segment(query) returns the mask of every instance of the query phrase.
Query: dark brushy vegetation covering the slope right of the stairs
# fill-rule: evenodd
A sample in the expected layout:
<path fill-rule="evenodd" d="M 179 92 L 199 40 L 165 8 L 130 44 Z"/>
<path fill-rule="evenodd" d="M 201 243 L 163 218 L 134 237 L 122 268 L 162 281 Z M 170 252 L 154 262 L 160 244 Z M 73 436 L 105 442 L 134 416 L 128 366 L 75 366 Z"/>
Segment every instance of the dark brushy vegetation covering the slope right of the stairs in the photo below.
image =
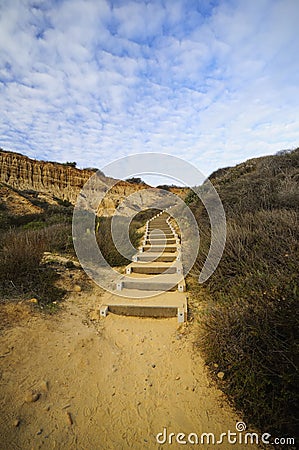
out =
<path fill-rule="evenodd" d="M 298 421 L 299 149 L 211 175 L 227 215 L 222 260 L 194 296 L 210 300 L 198 345 L 248 423 L 296 436 Z M 205 186 L 202 190 L 204 192 Z M 197 276 L 210 245 L 209 220 L 193 191 L 199 223 Z"/>

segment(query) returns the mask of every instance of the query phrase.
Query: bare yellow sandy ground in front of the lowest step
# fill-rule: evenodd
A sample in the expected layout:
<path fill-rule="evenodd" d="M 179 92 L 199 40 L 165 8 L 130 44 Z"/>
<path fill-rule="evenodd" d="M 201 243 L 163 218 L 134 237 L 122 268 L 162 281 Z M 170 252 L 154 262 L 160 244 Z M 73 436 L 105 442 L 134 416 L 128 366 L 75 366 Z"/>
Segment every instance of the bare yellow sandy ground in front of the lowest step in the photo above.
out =
<path fill-rule="evenodd" d="M 157 443 L 164 427 L 168 436 L 210 432 L 218 439 L 241 418 L 194 351 L 193 325 L 99 319 L 101 295 L 74 292 L 48 317 L 26 305 L 4 311 L 16 321 L 6 320 L 0 335 L 0 448 L 244 449 Z"/>

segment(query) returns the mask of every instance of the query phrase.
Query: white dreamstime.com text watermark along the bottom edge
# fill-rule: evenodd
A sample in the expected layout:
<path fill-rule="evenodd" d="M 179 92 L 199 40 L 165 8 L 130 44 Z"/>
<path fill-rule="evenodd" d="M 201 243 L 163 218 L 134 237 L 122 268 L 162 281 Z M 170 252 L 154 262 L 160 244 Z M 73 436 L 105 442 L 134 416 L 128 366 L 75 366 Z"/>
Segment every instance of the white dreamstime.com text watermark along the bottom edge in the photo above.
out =
<path fill-rule="evenodd" d="M 275 437 L 272 438 L 270 433 L 259 435 L 255 432 L 246 431 L 244 422 L 237 422 L 235 431 L 227 430 L 224 433 L 216 435 L 215 433 L 168 433 L 167 428 L 156 435 L 158 444 L 191 444 L 191 445 L 292 445 L 295 446 L 295 438 L 292 437 Z"/>

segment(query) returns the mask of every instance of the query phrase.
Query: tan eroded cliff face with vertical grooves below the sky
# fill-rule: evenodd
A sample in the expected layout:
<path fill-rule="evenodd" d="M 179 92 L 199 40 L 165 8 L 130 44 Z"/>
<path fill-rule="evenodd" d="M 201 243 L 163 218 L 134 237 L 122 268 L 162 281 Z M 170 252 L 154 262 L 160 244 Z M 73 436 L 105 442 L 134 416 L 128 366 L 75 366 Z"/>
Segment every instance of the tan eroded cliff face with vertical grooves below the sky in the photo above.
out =
<path fill-rule="evenodd" d="M 92 176 L 94 192 L 102 193 L 103 200 L 96 203 L 97 206 L 93 205 L 93 198 L 96 202 L 97 195 L 91 193 L 84 206 L 87 209 L 96 208 L 100 216 L 112 216 L 116 208 L 122 215 L 132 215 L 132 211 L 138 212 L 146 208 L 148 203 L 151 203 L 152 207 L 169 206 L 165 192 L 156 188 L 149 189 L 146 184 L 117 181 L 99 172 L 95 175 L 93 170 L 38 161 L 0 149 L 0 183 L 16 189 L 20 194 L 33 191 L 35 197 L 48 203 L 56 203 L 57 199 L 60 199 L 75 205 L 82 187 Z M 92 187 L 93 182 L 90 184 Z M 143 189 L 147 189 L 146 195 L 141 194 Z M 180 197 L 186 194 L 186 188 L 169 190 Z"/>

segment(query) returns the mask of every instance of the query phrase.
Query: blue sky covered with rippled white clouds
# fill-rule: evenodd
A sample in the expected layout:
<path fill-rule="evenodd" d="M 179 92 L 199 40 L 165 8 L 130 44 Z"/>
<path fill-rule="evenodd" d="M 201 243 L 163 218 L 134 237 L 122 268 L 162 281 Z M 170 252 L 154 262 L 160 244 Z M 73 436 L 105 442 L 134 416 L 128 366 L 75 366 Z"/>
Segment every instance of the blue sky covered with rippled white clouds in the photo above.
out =
<path fill-rule="evenodd" d="M 205 175 L 299 145 L 298 0 L 0 0 L 0 147 Z"/>

